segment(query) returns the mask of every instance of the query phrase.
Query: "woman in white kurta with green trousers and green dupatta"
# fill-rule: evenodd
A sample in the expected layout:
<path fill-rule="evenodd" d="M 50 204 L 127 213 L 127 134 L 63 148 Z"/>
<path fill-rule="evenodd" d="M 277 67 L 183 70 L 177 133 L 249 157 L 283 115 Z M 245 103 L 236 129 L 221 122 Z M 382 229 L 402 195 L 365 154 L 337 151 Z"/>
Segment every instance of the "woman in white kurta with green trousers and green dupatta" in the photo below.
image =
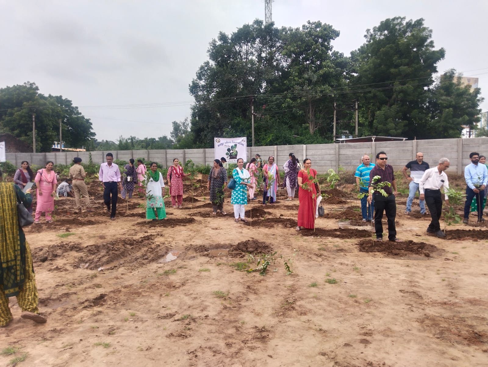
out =
<path fill-rule="evenodd" d="M 158 163 L 151 162 L 149 172 L 147 174 L 149 180 L 146 184 L 146 219 L 156 221 L 156 213 L 158 219 L 166 218 L 166 209 L 163 200 L 163 175 L 158 171 Z"/>

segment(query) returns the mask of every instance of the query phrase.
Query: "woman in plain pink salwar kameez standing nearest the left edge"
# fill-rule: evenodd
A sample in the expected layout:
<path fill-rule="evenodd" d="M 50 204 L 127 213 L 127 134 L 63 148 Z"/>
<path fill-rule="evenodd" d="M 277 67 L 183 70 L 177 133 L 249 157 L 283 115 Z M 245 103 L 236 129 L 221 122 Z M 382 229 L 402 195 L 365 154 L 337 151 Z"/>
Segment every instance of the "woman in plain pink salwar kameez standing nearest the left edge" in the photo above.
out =
<path fill-rule="evenodd" d="M 53 165 L 54 163 L 48 161 L 46 168 L 37 171 L 35 179 L 37 187 L 35 224 L 39 224 L 42 212 L 46 213 L 46 223 L 51 223 L 51 213 L 54 210 L 54 197 L 56 196 L 56 186 L 58 185 L 56 173 L 53 171 Z"/>

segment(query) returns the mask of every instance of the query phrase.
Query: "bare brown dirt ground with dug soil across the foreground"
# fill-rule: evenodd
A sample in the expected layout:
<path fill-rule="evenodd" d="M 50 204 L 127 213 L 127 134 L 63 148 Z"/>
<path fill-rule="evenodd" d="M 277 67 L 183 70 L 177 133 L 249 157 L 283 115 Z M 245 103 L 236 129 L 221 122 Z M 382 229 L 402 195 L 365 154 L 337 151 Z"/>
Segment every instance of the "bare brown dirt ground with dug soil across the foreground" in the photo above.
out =
<path fill-rule="evenodd" d="M 347 193 L 296 232 L 298 199 L 253 201 L 246 225 L 229 199 L 212 215 L 205 190 L 183 210 L 166 199 L 161 222 L 119 198 L 110 221 L 90 193 L 94 213 L 62 198 L 52 224 L 25 229 L 48 322 L 20 319 L 11 299 L 0 349 L 20 349 L 1 366 L 488 366 L 486 228 L 438 239 L 399 204 L 403 242 L 378 243 Z M 243 252 L 276 260 L 261 276 Z"/>

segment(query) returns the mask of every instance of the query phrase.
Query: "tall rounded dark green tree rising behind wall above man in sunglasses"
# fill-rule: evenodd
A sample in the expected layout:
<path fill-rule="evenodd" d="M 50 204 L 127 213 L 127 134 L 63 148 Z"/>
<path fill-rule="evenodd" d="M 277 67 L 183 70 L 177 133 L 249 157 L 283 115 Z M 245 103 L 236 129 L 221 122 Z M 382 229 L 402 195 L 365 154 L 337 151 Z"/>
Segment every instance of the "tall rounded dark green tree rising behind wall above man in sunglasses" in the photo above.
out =
<path fill-rule="evenodd" d="M 434 49 L 423 19 L 386 19 L 366 30 L 366 43 L 351 52 L 351 85 L 358 85 L 363 134 L 421 137 L 430 114 L 426 87 L 445 50 Z M 352 89 L 352 88 L 351 88 Z"/>

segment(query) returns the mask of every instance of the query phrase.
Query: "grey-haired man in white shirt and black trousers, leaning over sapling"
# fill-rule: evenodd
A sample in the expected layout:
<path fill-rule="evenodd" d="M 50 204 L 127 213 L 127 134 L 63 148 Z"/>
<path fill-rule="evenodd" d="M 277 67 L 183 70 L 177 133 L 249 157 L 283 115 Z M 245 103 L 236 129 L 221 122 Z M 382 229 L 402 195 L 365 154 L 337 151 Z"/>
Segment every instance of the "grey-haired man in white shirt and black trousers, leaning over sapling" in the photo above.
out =
<path fill-rule="evenodd" d="M 419 183 L 420 200 L 425 200 L 430 217 L 432 218 L 432 221 L 427 227 L 427 233 L 435 233 L 437 237 L 446 237 L 444 232 L 441 231 L 439 219 L 442 214 L 441 187 L 444 187 L 446 204 L 449 205 L 449 198 L 447 197 L 449 182 L 444 172 L 449 168 L 449 164 L 447 158 L 441 158 L 437 167 L 429 168 L 424 172 Z"/>

